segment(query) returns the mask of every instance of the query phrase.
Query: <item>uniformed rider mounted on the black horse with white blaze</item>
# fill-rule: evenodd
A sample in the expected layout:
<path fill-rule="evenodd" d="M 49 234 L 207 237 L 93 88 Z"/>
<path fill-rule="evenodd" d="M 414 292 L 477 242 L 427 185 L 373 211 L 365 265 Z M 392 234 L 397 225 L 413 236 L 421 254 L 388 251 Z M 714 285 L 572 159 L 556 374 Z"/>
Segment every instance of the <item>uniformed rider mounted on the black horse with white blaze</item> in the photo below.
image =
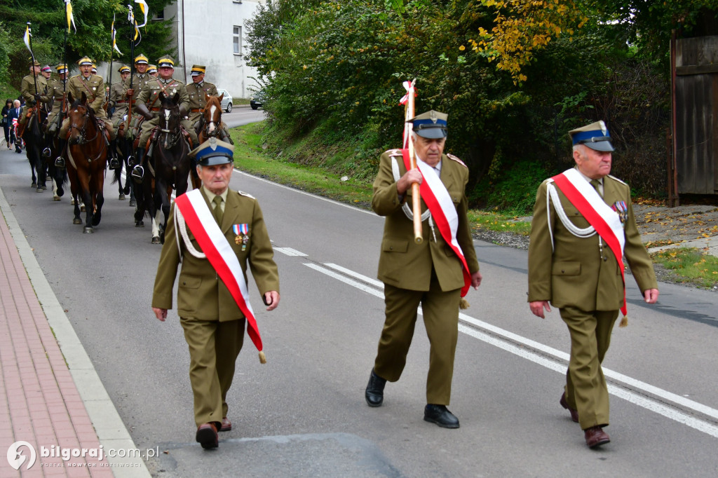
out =
<path fill-rule="evenodd" d="M 137 97 L 136 109 L 148 121 L 142 123 L 142 133 L 139 137 L 139 146 L 137 146 L 137 165 L 132 169 L 131 173 L 136 182 L 142 181 L 145 146 L 152 133 L 152 128 L 159 123 L 159 116 L 153 114 L 159 111 L 162 104 L 159 99 L 159 93 L 164 93 L 169 97 L 174 94 L 180 95 L 180 117 L 185 117 L 187 112 L 190 111 L 190 99 L 187 95 L 185 83 L 172 78 L 172 73 L 174 72 L 174 60 L 172 60 L 172 57 L 162 57 L 157 61 L 157 64 L 159 65 L 159 78 L 150 80 Z M 197 146 L 197 133 L 192 128 L 192 123 L 187 119 L 183 119 L 180 123 L 189 134 L 192 145 Z"/>

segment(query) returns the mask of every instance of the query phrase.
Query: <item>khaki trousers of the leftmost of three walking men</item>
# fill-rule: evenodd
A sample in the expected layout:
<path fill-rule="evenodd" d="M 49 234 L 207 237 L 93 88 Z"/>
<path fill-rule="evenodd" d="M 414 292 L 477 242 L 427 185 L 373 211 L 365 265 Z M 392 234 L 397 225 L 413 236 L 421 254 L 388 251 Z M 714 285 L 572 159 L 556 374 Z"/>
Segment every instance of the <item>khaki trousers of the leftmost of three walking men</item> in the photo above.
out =
<path fill-rule="evenodd" d="M 195 423 L 221 422 L 227 416 L 227 392 L 244 342 L 245 319 L 218 322 L 180 319 L 190 347 L 190 383 Z"/>

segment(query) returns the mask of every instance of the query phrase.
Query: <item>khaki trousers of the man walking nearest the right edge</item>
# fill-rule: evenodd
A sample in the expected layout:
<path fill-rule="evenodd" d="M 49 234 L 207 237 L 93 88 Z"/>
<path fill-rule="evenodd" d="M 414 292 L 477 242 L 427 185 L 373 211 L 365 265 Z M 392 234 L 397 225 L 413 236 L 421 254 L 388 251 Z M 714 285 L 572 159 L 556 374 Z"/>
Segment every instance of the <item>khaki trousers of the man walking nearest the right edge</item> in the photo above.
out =
<path fill-rule="evenodd" d="M 611 343 L 618 311 L 560 310 L 571 334 L 571 358 L 566 372 L 566 400 L 579 412 L 582 430 L 607 426 L 608 388 L 601 364 Z"/>

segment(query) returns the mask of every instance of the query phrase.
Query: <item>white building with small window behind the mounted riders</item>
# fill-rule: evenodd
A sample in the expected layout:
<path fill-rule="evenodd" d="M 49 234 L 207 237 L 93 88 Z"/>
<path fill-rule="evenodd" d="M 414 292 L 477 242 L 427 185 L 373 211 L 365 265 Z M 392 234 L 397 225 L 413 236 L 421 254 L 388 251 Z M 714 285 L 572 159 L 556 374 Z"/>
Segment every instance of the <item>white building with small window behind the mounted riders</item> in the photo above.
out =
<path fill-rule="evenodd" d="M 245 21 L 259 4 L 264 0 L 177 0 L 165 7 L 162 18 L 173 19 L 177 39 L 174 77 L 191 83 L 192 65 L 205 65 L 208 82 L 233 98 L 249 98 L 258 85 L 250 78 L 257 70 L 243 60 Z"/>

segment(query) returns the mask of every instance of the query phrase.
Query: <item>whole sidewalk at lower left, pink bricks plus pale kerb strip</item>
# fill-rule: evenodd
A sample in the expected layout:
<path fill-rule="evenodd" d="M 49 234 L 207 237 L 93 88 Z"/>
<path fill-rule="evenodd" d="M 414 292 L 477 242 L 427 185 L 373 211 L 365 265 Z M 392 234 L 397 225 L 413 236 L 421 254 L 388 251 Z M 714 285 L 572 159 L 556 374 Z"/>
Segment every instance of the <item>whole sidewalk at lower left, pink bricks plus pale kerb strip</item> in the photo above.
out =
<path fill-rule="evenodd" d="M 149 477 L 1 190 L 0 210 L 0 478 Z"/>

